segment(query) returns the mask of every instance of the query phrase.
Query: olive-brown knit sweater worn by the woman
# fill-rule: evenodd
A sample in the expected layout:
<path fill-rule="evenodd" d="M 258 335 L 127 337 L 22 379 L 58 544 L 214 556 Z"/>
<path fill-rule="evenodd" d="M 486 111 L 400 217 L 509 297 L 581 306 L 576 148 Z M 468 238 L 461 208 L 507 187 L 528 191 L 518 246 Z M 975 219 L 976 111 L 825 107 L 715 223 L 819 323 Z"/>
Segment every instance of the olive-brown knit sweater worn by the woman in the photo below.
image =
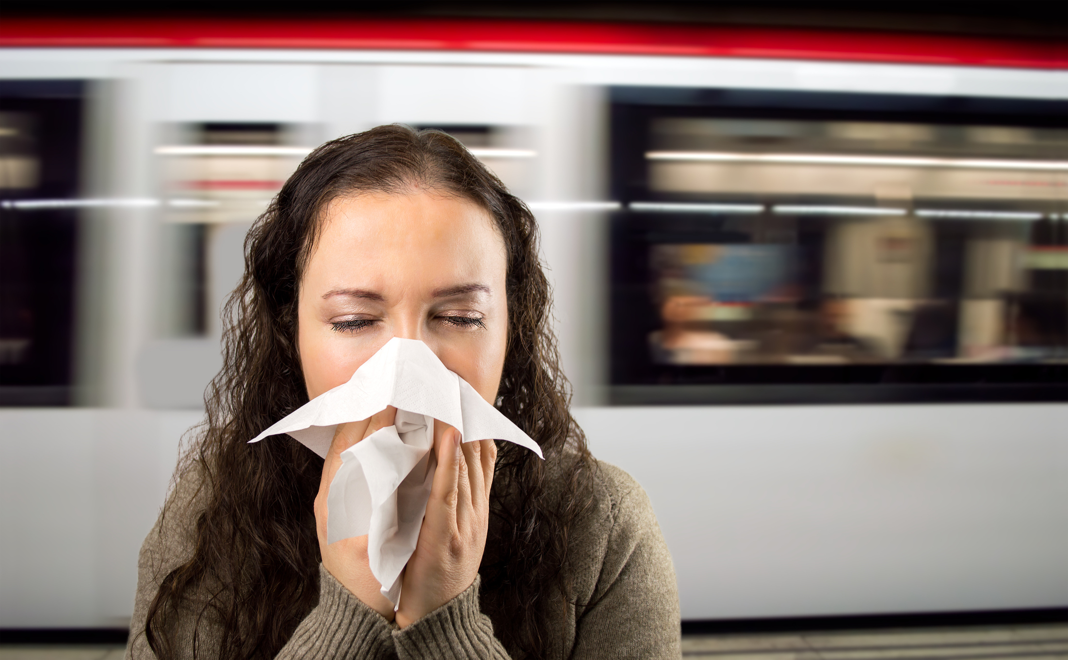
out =
<path fill-rule="evenodd" d="M 571 530 L 575 599 L 551 621 L 549 658 L 680 658 L 678 592 L 671 554 L 649 499 L 626 472 L 598 463 L 595 504 Z M 138 589 L 127 659 L 153 658 L 145 613 L 171 569 L 192 551 L 195 479 L 178 482 L 168 515 L 148 533 L 138 562 Z M 478 605 L 480 580 L 453 600 L 398 629 L 319 566 L 319 600 L 279 658 L 494 658 L 509 656 Z M 179 622 L 182 658 L 192 658 L 194 614 Z M 198 654 L 215 658 L 218 638 L 207 622 Z"/>

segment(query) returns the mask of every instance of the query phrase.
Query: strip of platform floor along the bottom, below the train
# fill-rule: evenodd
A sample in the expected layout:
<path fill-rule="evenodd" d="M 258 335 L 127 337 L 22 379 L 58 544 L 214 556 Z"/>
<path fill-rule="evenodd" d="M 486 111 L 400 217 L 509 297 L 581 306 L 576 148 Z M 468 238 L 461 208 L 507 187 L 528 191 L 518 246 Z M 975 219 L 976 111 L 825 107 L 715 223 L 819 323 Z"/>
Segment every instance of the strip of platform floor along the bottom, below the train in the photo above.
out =
<path fill-rule="evenodd" d="M 0 645 L 0 660 L 121 660 L 114 645 Z M 708 660 L 1065 660 L 1068 623 L 838 632 L 686 635 L 684 658 Z"/>

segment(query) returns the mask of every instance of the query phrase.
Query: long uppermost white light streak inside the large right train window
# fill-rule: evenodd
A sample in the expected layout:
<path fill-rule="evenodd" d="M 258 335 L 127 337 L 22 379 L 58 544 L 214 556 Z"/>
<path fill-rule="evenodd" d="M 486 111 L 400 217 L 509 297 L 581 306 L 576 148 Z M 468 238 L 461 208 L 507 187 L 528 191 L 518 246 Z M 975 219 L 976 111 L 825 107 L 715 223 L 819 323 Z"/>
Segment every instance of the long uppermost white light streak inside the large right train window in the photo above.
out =
<path fill-rule="evenodd" d="M 1068 172 L 1068 161 L 914 156 L 848 156 L 837 154 L 742 154 L 728 151 L 646 151 L 648 160 L 801 165 L 886 165 L 892 167 L 964 167 L 973 170 L 1041 170 Z"/>

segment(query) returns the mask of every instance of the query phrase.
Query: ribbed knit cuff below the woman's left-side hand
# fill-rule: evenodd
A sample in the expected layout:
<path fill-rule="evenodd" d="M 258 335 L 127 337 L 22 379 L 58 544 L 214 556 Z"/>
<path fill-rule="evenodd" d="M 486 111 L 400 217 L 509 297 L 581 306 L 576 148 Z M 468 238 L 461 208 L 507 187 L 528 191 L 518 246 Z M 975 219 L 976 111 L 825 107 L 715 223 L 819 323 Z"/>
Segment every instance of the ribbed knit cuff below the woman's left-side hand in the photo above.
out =
<path fill-rule="evenodd" d="M 319 564 L 319 603 L 277 658 L 394 658 L 393 628 Z"/>

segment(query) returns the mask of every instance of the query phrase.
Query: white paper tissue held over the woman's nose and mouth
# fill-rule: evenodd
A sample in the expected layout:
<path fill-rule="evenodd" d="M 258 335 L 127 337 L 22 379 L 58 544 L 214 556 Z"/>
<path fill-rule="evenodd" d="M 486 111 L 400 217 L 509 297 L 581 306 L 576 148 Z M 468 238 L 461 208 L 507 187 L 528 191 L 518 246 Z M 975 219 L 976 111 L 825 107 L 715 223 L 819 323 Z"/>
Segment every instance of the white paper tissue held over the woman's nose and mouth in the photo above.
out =
<path fill-rule="evenodd" d="M 434 420 L 455 426 L 464 442 L 507 440 L 538 456 L 537 442 L 450 371 L 422 341 L 390 339 L 344 385 L 294 411 L 250 442 L 288 433 L 326 456 L 337 424 L 367 419 L 387 406 L 394 425 L 341 453 L 327 496 L 327 543 L 367 534 L 371 573 L 394 606 L 412 552 L 437 466 Z"/>

